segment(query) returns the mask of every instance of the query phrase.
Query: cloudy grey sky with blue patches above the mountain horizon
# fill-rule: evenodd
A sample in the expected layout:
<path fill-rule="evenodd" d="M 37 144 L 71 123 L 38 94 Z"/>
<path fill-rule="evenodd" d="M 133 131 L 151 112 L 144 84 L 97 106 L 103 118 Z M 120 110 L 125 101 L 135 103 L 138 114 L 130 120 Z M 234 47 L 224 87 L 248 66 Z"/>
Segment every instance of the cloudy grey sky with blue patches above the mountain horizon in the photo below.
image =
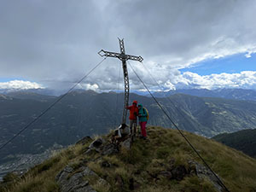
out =
<path fill-rule="evenodd" d="M 152 76 L 164 90 L 256 90 L 255 9 L 254 0 L 0 1 L 0 89 L 68 90 L 124 38 L 151 90 Z M 121 70 L 108 58 L 78 88 L 122 89 Z M 143 90 L 128 71 L 131 90 Z"/>

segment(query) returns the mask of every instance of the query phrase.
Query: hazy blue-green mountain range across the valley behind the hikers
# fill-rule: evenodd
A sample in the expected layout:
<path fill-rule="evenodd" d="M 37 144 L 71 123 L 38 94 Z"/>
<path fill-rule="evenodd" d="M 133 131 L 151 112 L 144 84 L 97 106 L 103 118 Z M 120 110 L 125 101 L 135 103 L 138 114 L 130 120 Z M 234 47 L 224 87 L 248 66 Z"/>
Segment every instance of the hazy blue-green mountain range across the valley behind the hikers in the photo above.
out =
<path fill-rule="evenodd" d="M 102 134 L 120 123 L 124 94 L 73 91 L 41 119 L 0 151 L 0 163 L 14 154 L 38 154 L 55 143 L 68 145 L 79 138 Z M 57 97 L 16 92 L 0 95 L 0 145 L 35 119 Z M 149 111 L 149 125 L 173 125 L 148 96 L 131 94 Z M 212 137 L 223 132 L 256 128 L 256 102 L 177 94 L 159 98 L 180 129 Z"/>

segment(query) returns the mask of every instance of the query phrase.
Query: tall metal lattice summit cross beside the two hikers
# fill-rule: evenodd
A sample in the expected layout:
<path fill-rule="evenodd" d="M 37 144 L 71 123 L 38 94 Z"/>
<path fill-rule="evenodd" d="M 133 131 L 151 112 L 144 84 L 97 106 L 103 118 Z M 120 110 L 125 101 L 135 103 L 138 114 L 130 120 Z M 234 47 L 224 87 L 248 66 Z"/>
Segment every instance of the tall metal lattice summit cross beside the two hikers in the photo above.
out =
<path fill-rule="evenodd" d="M 116 57 L 116 58 L 119 58 L 120 61 L 122 61 L 122 67 L 123 67 L 123 72 L 124 72 L 124 81 L 125 81 L 125 102 L 124 102 L 123 117 L 122 117 L 121 124 L 125 125 L 126 124 L 126 116 L 127 116 L 126 106 L 128 106 L 128 103 L 129 103 L 129 92 L 130 92 L 129 77 L 128 77 L 126 61 L 133 60 L 133 61 L 142 62 L 143 57 L 135 56 L 135 55 L 125 55 L 124 38 L 119 39 L 119 46 L 120 46 L 120 53 L 109 52 L 109 51 L 105 51 L 102 49 L 98 52 L 98 54 L 101 56 Z"/>

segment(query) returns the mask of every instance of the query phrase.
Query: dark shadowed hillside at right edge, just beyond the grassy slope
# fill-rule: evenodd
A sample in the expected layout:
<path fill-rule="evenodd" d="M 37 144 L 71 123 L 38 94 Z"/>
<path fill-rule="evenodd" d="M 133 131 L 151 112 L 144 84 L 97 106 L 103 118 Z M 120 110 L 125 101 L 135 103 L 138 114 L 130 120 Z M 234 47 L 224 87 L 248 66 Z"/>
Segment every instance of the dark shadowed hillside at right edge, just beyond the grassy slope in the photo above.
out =
<path fill-rule="evenodd" d="M 230 148 L 236 148 L 244 154 L 256 158 L 256 130 L 242 130 L 233 133 L 223 133 L 212 139 L 224 143 Z"/>

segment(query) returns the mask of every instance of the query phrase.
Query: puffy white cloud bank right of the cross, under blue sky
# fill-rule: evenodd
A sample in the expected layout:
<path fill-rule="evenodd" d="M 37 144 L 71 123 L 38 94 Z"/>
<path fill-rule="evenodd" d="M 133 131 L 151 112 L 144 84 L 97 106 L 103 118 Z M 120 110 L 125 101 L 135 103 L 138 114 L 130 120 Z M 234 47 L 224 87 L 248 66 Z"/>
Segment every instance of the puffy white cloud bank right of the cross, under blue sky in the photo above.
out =
<path fill-rule="evenodd" d="M 154 71 L 150 69 L 148 69 L 148 71 L 148 74 L 144 73 L 143 81 L 148 84 L 152 90 L 216 90 L 224 88 L 256 90 L 255 71 L 243 71 L 241 73 L 213 73 L 211 75 L 199 75 L 191 72 L 180 73 L 178 70 L 173 72 L 172 75 L 168 75 L 168 73 L 154 73 Z M 136 82 L 134 87 L 137 89 L 144 89 L 143 84 L 139 81 Z"/>

